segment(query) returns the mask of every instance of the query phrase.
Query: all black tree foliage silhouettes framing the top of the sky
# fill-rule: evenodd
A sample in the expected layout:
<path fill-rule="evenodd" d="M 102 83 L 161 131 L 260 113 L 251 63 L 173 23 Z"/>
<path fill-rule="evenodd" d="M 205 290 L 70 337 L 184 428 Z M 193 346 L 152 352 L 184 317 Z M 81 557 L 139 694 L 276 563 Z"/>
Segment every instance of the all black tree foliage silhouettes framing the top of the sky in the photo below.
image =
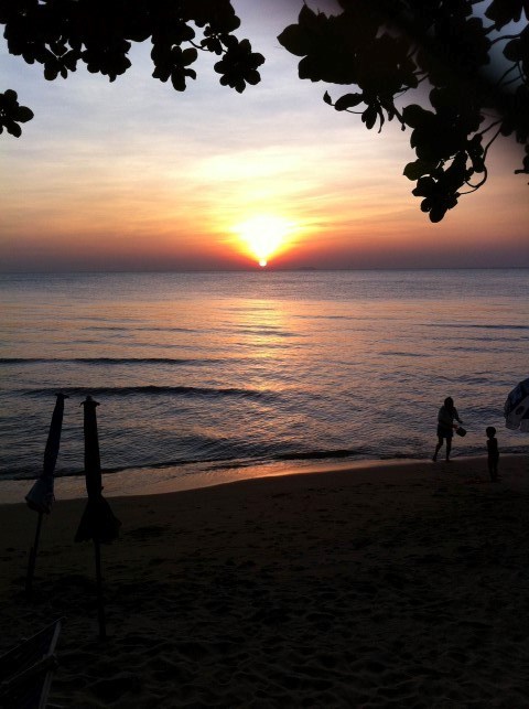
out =
<path fill-rule="evenodd" d="M 338 4 L 332 15 L 304 4 L 278 39 L 301 57 L 300 78 L 354 87 L 336 99 L 325 92 L 336 110 L 358 114 L 368 129 L 395 119 L 411 130 L 417 159 L 403 173 L 432 222 L 485 183 L 500 135 L 525 150 L 515 172 L 529 174 L 529 0 Z M 82 62 L 112 82 L 130 66 L 131 42 L 148 39 L 153 77 L 179 92 L 196 78 L 198 52 L 219 57 L 220 84 L 239 93 L 260 80 L 264 62 L 234 34 L 240 20 L 229 0 L 0 0 L 0 23 L 9 52 L 42 64 L 50 80 Z M 0 94 L 0 132 L 19 137 L 32 117 L 12 89 Z"/>

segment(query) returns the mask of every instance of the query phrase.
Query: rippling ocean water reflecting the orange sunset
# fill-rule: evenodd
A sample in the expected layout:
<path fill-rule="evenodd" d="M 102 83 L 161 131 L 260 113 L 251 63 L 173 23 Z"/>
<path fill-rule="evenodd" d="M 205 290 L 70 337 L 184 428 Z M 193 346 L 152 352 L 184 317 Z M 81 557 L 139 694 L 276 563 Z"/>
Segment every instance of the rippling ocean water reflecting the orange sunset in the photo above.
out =
<path fill-rule="evenodd" d="M 452 396 L 454 453 L 527 450 L 505 429 L 529 376 L 529 269 L 1 275 L 0 480 L 83 474 L 99 407 L 109 475 L 289 461 L 430 458 Z"/>

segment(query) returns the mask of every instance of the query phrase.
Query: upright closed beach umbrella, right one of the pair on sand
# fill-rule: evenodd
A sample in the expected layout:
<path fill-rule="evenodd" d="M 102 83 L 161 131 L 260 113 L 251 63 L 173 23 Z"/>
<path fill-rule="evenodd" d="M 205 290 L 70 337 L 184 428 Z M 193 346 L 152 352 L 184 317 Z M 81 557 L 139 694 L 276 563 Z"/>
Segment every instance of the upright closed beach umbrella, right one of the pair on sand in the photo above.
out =
<path fill-rule="evenodd" d="M 91 396 L 83 401 L 85 432 L 85 479 L 88 502 L 80 519 L 76 541 L 94 541 L 96 557 L 97 600 L 99 617 L 99 636 L 106 637 L 105 608 L 102 602 L 100 544 L 110 544 L 118 537 L 121 523 L 117 519 L 110 505 L 102 497 L 101 464 L 99 459 L 99 439 L 97 434 L 96 407 L 99 406 Z"/>

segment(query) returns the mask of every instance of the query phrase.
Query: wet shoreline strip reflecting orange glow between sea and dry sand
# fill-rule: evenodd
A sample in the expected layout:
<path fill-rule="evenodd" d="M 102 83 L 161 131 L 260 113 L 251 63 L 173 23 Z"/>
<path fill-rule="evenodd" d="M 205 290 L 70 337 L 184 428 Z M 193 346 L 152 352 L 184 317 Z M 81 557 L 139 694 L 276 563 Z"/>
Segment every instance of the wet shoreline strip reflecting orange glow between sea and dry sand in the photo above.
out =
<path fill-rule="evenodd" d="M 501 456 L 501 461 L 517 461 L 523 458 L 522 453 L 509 453 Z M 486 455 L 453 456 L 451 465 L 457 463 L 477 463 L 481 461 L 484 473 L 487 471 Z M 136 497 L 142 495 L 171 494 L 190 490 L 203 490 L 228 483 L 245 482 L 260 477 L 276 477 L 303 474 L 326 474 L 332 472 L 350 472 L 355 474 L 377 469 L 412 469 L 430 466 L 432 470 L 445 465 L 443 461 L 433 463 L 430 459 L 387 459 L 387 460 L 357 460 L 327 462 L 312 461 L 310 463 L 293 463 L 280 461 L 255 465 L 239 465 L 236 468 L 212 468 L 207 471 L 190 472 L 179 466 L 165 469 L 129 469 L 119 473 L 102 472 L 104 497 Z M 24 496 L 34 484 L 31 480 L 0 481 L 0 505 L 25 504 Z M 84 499 L 86 487 L 84 475 L 55 477 L 55 501 Z"/>

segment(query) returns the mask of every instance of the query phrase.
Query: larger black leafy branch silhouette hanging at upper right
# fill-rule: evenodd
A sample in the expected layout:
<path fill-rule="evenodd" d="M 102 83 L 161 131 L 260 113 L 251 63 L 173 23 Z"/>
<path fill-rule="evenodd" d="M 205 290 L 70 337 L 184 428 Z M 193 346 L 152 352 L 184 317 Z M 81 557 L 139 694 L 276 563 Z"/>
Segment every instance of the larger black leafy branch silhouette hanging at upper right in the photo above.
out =
<path fill-rule="evenodd" d="M 300 78 L 352 85 L 335 101 L 359 114 L 366 128 L 397 119 L 411 129 L 417 160 L 404 175 L 421 210 L 440 222 L 462 194 L 487 179 L 486 158 L 499 135 L 525 146 L 529 174 L 529 28 L 500 31 L 529 17 L 529 0 L 493 0 L 474 14 L 475 0 L 339 0 L 342 13 L 302 9 L 298 24 L 279 36 L 302 60 Z M 501 75 L 492 54 L 503 45 Z M 488 69 L 488 72 L 487 72 Z M 419 94 L 421 104 L 406 103 Z M 425 100 L 428 98 L 428 101 Z M 429 105 L 428 105 L 429 104 Z"/>

